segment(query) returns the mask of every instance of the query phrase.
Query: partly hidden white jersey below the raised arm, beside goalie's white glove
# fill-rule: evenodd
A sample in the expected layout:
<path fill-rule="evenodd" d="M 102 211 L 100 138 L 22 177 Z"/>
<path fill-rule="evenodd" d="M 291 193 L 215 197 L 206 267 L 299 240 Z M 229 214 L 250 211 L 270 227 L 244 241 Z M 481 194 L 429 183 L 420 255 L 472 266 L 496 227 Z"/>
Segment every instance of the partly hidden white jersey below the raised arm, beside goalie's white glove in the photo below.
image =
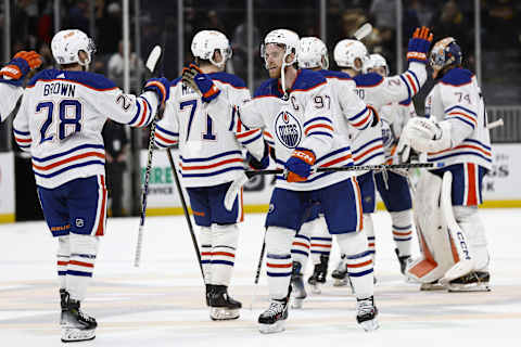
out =
<path fill-rule="evenodd" d="M 396 164 L 396 146 L 407 121 L 416 116 L 412 102 L 393 102 L 382 106 L 380 119 L 382 120 L 382 142 L 385 154 L 385 164 Z"/>

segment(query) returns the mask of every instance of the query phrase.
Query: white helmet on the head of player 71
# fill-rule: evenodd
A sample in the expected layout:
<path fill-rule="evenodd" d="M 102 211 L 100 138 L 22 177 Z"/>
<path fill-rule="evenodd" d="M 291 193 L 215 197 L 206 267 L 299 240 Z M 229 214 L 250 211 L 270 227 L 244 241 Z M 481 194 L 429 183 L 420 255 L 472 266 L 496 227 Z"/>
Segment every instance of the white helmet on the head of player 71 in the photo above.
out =
<path fill-rule="evenodd" d="M 217 30 L 201 30 L 192 39 L 193 56 L 209 61 L 217 67 L 223 67 L 232 55 L 230 41 L 225 34 Z M 218 50 L 223 61 L 214 61 L 214 53 Z"/>

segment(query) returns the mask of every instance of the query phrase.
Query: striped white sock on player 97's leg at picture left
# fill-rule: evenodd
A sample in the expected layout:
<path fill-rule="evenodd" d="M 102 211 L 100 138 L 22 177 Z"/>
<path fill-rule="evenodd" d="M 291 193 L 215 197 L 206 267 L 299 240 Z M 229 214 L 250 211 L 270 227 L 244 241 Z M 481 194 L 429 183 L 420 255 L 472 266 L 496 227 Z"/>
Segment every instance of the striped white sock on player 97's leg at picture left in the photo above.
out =
<path fill-rule="evenodd" d="M 280 227 L 268 227 L 266 231 L 266 272 L 271 299 L 281 300 L 288 296 L 292 270 L 291 244 L 294 234 L 294 230 Z"/>

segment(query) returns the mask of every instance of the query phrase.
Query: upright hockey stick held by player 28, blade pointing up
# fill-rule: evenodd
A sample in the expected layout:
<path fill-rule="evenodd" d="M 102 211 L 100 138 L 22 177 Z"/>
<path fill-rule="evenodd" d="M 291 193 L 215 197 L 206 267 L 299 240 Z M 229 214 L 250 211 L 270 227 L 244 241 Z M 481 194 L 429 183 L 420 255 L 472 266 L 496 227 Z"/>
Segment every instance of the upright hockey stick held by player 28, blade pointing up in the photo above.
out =
<path fill-rule="evenodd" d="M 149 72 L 153 73 L 155 69 L 155 65 L 160 60 L 162 54 L 162 49 L 160 46 L 154 47 L 152 52 L 150 52 L 149 59 L 147 60 L 147 68 Z M 157 107 L 158 108 L 158 107 Z M 150 181 L 150 170 L 152 169 L 152 156 L 154 151 L 154 138 L 155 138 L 155 124 L 157 121 L 157 113 L 154 115 L 152 119 L 152 125 L 150 127 L 150 139 L 149 139 L 149 154 L 147 159 L 147 169 L 144 171 L 144 184 L 143 191 L 141 194 L 141 216 L 139 219 L 139 231 L 138 231 L 138 242 L 136 244 L 136 256 L 134 258 L 134 266 L 136 268 L 139 267 L 139 262 L 141 260 L 141 249 L 143 245 L 143 233 L 144 233 L 144 217 L 147 214 L 147 196 L 149 194 L 149 181 Z"/>

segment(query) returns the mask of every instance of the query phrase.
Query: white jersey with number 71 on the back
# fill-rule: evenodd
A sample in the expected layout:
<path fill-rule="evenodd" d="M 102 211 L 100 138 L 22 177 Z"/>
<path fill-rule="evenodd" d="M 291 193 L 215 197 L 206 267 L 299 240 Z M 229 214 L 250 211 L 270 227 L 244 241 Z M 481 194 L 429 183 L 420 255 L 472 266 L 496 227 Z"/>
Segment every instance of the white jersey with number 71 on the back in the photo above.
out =
<path fill-rule="evenodd" d="M 218 98 L 231 105 L 240 106 L 251 99 L 239 77 L 227 73 L 208 76 L 220 90 Z M 186 187 L 230 182 L 244 170 L 242 145 L 258 159 L 264 154 L 262 130 L 250 129 L 237 120 L 237 116 L 229 119 L 227 107 L 207 112 L 201 97 L 177 78 L 171 83 L 164 117 L 155 128 L 155 144 L 167 147 L 179 142 L 180 174 Z"/>

